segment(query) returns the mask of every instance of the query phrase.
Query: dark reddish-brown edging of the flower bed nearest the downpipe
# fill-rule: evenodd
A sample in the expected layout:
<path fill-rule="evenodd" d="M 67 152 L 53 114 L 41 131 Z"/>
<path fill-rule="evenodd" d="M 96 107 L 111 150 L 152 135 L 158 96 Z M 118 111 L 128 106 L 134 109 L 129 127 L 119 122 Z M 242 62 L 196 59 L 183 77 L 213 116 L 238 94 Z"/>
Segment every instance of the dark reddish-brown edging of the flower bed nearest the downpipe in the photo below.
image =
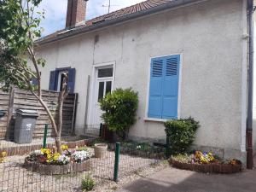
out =
<path fill-rule="evenodd" d="M 230 164 L 189 164 L 177 160 L 170 160 L 170 164 L 179 169 L 190 170 L 195 172 L 215 172 L 215 173 L 236 173 L 241 172 L 241 165 L 233 166 Z"/>

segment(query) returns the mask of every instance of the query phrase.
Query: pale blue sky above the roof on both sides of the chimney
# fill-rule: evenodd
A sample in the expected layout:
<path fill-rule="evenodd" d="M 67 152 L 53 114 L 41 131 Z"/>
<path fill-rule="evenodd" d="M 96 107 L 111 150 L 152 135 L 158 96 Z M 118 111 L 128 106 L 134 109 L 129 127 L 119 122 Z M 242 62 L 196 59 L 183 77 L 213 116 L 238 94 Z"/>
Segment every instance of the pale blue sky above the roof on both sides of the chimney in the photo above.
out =
<path fill-rule="evenodd" d="M 108 14 L 109 0 L 89 0 L 87 2 L 86 20 Z M 111 0 L 110 11 L 122 9 L 145 0 Z M 44 36 L 65 27 L 67 0 L 43 0 L 39 9 L 45 9 L 45 20 L 42 21 Z"/>

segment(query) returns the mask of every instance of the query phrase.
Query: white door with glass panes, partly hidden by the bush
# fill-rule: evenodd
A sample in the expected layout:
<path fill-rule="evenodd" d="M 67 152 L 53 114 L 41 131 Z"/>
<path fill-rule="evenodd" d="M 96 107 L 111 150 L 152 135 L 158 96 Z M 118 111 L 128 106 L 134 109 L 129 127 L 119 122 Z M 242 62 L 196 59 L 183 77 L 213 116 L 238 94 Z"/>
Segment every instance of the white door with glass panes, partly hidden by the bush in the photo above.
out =
<path fill-rule="evenodd" d="M 94 95 L 93 124 L 99 125 L 102 121 L 102 110 L 99 101 L 113 90 L 113 67 L 99 68 L 96 75 L 96 92 Z"/>

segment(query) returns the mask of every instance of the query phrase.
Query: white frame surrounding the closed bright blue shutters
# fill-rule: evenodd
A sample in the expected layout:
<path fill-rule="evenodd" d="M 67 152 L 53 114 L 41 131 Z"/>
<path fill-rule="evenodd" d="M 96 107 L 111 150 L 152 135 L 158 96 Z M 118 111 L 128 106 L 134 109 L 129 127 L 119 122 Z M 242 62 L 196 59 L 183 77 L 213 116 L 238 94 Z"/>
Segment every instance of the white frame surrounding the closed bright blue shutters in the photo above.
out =
<path fill-rule="evenodd" d="M 182 88 L 182 71 L 183 71 L 183 53 L 173 53 L 169 55 L 154 55 L 149 56 L 148 58 L 148 82 L 147 82 L 147 94 L 146 94 L 146 108 L 145 108 L 145 115 L 144 120 L 145 121 L 155 121 L 155 122 L 166 122 L 170 119 L 159 119 L 159 118 L 149 118 L 148 117 L 148 102 L 149 102 L 149 87 L 150 87 L 150 74 L 151 74 L 151 61 L 154 58 L 164 57 L 164 56 L 172 56 L 172 55 L 180 55 L 180 63 L 179 63 L 179 73 L 178 73 L 178 95 L 177 95 L 177 119 L 180 119 L 180 108 L 181 108 L 181 88 Z"/>

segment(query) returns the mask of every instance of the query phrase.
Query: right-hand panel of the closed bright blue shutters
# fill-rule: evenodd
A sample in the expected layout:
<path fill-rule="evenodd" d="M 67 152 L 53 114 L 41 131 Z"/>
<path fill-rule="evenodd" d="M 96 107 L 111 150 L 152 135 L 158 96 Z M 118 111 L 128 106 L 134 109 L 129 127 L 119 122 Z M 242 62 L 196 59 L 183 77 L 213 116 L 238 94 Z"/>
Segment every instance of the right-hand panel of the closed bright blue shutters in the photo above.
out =
<path fill-rule="evenodd" d="M 163 79 L 162 119 L 177 119 L 179 55 L 165 59 Z"/>

